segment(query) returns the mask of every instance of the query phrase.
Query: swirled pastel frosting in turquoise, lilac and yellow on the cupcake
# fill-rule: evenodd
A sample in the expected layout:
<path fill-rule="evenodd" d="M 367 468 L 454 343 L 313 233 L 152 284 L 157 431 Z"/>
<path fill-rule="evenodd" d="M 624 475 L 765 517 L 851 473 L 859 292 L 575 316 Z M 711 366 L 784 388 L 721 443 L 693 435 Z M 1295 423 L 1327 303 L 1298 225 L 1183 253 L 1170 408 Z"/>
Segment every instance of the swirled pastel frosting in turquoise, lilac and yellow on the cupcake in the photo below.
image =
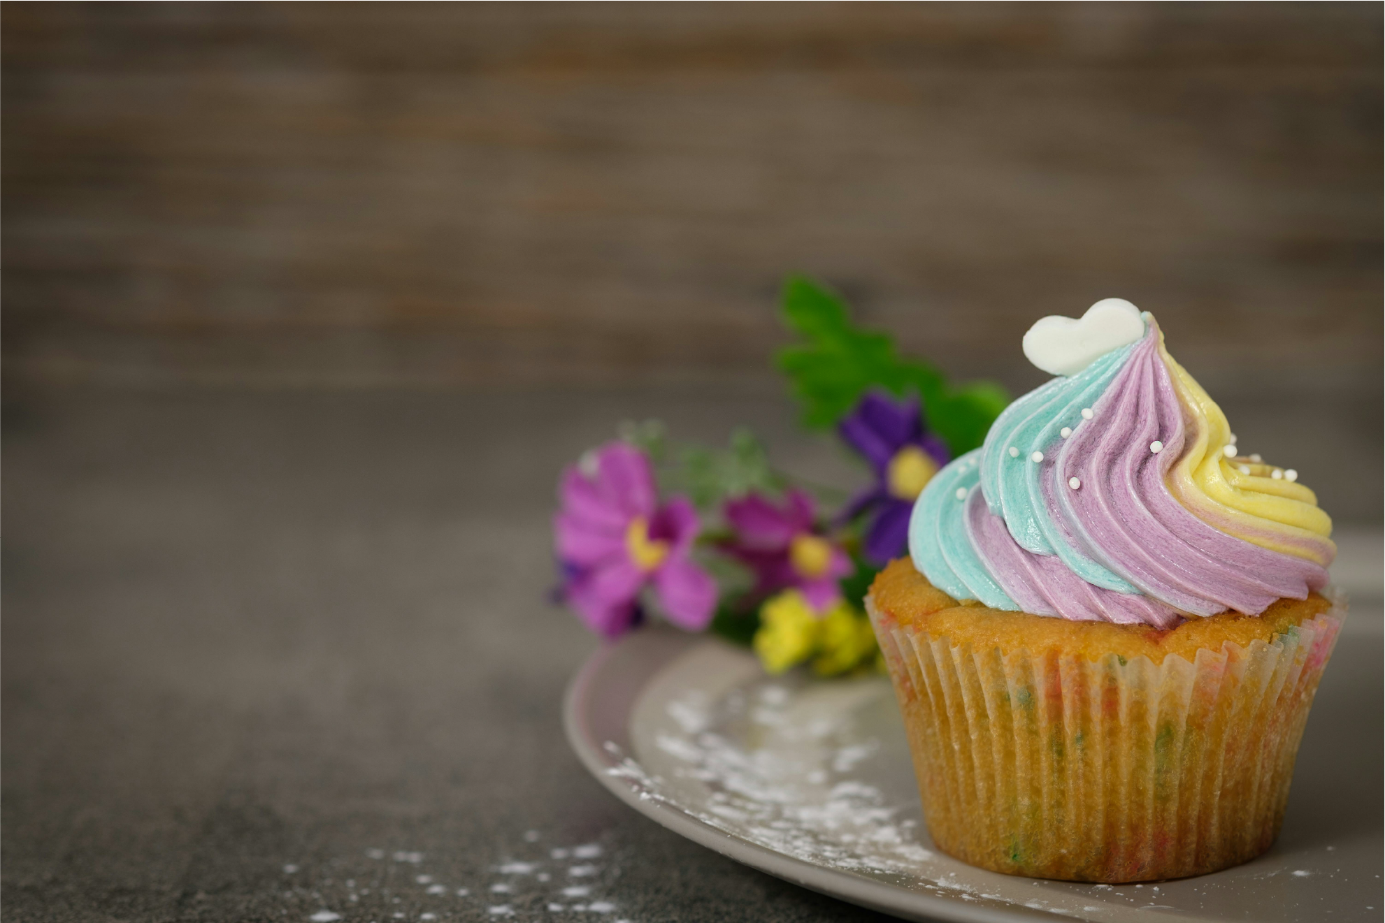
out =
<path fill-rule="evenodd" d="M 1025 394 L 933 476 L 909 548 L 935 587 L 993 609 L 1172 627 L 1327 584 L 1337 547 L 1313 491 L 1235 454 L 1222 410 L 1140 317 L 1140 339 Z"/>

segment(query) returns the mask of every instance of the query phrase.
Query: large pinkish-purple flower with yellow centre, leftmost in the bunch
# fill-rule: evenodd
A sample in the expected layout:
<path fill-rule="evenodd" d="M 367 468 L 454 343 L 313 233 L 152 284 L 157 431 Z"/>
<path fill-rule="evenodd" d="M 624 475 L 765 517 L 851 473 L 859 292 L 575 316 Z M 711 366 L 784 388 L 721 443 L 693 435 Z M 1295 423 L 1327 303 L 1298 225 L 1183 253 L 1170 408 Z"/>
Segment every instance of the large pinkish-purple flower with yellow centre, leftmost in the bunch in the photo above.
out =
<path fill-rule="evenodd" d="M 684 497 L 658 502 L 645 455 L 611 443 L 562 473 L 553 519 L 562 598 L 591 628 L 615 637 L 638 620 L 638 596 L 654 584 L 661 609 L 690 631 L 706 627 L 716 583 L 691 560 L 698 520 Z"/>

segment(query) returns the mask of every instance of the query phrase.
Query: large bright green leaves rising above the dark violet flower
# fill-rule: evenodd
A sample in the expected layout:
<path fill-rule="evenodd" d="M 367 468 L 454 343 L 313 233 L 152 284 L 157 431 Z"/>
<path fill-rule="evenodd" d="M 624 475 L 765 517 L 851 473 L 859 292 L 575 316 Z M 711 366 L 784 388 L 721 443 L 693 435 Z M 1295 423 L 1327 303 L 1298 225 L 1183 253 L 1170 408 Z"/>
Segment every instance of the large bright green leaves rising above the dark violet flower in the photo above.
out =
<path fill-rule="evenodd" d="M 784 284 L 784 321 L 807 340 L 780 350 L 776 363 L 803 404 L 803 423 L 827 428 L 846 417 L 871 387 L 899 397 L 918 394 L 928 426 L 954 455 L 981 446 L 1010 396 L 994 382 L 947 385 L 940 371 L 902 358 L 888 333 L 856 327 L 845 302 L 821 285 L 792 275 Z"/>

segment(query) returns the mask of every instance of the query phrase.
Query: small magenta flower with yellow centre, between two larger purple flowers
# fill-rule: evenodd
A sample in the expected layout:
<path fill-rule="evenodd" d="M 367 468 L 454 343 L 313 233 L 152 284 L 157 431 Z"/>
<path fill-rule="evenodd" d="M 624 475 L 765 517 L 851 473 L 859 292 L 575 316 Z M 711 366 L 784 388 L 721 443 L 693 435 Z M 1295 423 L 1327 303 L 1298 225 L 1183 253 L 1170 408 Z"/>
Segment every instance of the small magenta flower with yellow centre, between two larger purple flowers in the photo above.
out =
<path fill-rule="evenodd" d="M 838 580 L 852 572 L 852 559 L 813 530 L 813 500 L 791 490 L 784 506 L 759 494 L 726 504 L 735 537 L 722 549 L 755 572 L 753 595 L 769 596 L 796 587 L 809 605 L 824 612 L 841 599 Z"/>

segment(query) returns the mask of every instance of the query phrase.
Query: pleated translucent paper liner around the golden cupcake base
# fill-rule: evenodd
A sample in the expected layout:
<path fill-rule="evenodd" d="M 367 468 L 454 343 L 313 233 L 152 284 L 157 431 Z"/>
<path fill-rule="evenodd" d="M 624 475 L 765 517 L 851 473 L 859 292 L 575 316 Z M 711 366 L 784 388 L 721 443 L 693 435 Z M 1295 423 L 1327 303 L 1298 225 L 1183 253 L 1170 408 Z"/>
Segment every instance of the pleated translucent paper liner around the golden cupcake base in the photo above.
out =
<path fill-rule="evenodd" d="M 1148 881 L 1274 841 L 1345 609 L 1192 663 L 974 650 L 866 601 L 933 843 L 986 869 Z"/>

